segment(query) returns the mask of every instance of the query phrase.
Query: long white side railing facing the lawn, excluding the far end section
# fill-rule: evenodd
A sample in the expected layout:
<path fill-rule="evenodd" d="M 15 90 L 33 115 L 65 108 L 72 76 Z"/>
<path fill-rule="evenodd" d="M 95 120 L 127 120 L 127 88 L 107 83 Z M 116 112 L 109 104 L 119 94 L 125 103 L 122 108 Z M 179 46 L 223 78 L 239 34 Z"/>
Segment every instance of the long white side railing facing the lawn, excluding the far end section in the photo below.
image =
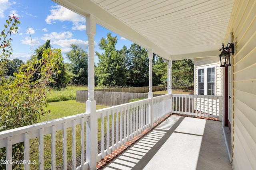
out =
<path fill-rule="evenodd" d="M 164 107 L 170 105 L 171 95 L 159 96 L 152 99 L 140 100 L 118 106 L 108 107 L 96 111 L 98 118 L 101 118 L 101 153 L 98 160 L 112 152 L 114 149 L 124 144 L 126 141 L 140 133 L 146 128 L 150 127 L 151 114 L 149 107 L 154 109 L 154 121 L 160 119 L 163 115 L 170 113 L 171 107 Z M 153 105 L 151 104 L 153 103 Z M 161 113 L 158 113 L 161 111 Z M 47 148 L 51 149 L 51 166 L 52 170 L 56 169 L 56 153 L 58 152 L 56 144 L 57 131 L 62 131 L 62 162 L 63 169 L 67 168 L 67 148 L 72 148 L 72 168 L 73 169 L 87 169 L 88 162 L 85 162 L 85 122 L 88 121 L 90 114 L 82 113 L 52 121 L 37 123 L 34 125 L 24 126 L 16 129 L 10 129 L 0 132 L 0 149 L 6 148 L 6 169 L 12 169 L 12 146 L 24 142 L 24 169 L 30 168 L 30 139 L 38 138 L 36 144 L 38 146 L 38 168 L 44 169 L 44 137 L 51 134 L 51 143 Z M 112 123 L 113 122 L 113 123 Z M 80 144 L 76 143 L 77 125 L 80 125 Z M 72 128 L 72 130 L 68 130 Z M 106 130 L 105 130 L 106 129 Z M 106 139 L 104 136 L 106 134 Z M 67 146 L 67 136 L 72 137 L 72 144 Z M 111 135 L 111 140 L 110 140 Z M 98 142 L 98 141 L 95 141 Z M 81 163 L 76 167 L 76 147 L 80 145 Z M 105 146 L 105 147 L 104 147 Z M 106 149 L 104 149 L 106 148 Z M 96 151 L 97 152 L 97 151 Z M 34 161 L 34 160 L 32 160 Z M 3 162 L 4 163 L 4 162 Z M 15 162 L 16 163 L 16 162 Z"/>

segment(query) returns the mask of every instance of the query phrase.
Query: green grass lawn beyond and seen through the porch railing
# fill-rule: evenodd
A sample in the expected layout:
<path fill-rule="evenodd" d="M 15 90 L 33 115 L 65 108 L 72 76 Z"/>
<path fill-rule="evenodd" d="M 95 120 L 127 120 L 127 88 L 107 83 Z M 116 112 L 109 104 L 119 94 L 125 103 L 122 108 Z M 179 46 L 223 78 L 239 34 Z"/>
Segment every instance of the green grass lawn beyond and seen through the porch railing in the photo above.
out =
<path fill-rule="evenodd" d="M 47 95 L 48 106 L 45 115 L 41 116 L 41 122 L 76 115 L 86 112 L 86 105 L 76 102 L 76 90 L 87 90 L 83 86 L 69 86 L 64 90 L 51 90 Z M 156 94 L 167 94 L 167 91 L 153 92 Z M 188 92 L 173 91 L 174 94 L 189 94 Z M 191 92 L 190 92 L 191 93 Z M 60 101 L 60 102 L 53 102 Z M 98 106 L 102 109 L 107 106 Z M 111 117 L 110 117 L 111 120 Z M 106 122 L 106 120 L 105 120 Z M 106 123 L 105 123 L 106 126 Z M 106 129 L 106 127 L 105 127 Z M 98 119 L 98 140 L 101 136 L 101 119 Z M 85 141 L 84 141 L 85 142 Z M 31 169 L 38 169 L 38 138 L 30 140 L 30 160 L 36 160 L 36 164 L 30 165 Z M 86 145 L 86 143 L 85 143 Z M 68 161 L 72 160 L 72 129 L 67 129 L 67 157 Z M 80 125 L 76 126 L 76 156 L 80 155 Z M 62 166 L 62 131 L 56 132 L 56 166 Z M 44 135 L 44 169 L 51 169 L 51 135 Z"/>

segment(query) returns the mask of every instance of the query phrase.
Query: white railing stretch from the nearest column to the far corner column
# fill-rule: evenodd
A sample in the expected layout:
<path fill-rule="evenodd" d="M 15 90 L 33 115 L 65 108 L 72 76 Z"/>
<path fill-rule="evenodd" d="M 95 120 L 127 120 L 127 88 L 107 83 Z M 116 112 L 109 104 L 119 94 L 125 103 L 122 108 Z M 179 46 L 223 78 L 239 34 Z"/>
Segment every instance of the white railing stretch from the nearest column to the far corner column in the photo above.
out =
<path fill-rule="evenodd" d="M 101 153 L 98 154 L 98 160 L 146 128 L 150 128 L 151 102 L 153 122 L 170 113 L 171 94 L 97 110 L 98 119 L 101 118 L 101 134 L 106 134 L 106 137 L 101 136 Z"/>

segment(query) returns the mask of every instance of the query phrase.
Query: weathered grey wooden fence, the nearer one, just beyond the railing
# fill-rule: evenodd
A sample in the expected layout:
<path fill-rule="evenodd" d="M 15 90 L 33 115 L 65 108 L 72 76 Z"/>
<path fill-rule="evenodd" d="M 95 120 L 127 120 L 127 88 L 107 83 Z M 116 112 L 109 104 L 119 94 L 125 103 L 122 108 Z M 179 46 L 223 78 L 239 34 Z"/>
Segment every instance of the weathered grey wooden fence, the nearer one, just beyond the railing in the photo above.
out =
<path fill-rule="evenodd" d="M 154 96 L 161 96 L 163 94 L 153 94 Z M 124 92 L 98 92 L 94 91 L 94 99 L 98 105 L 103 106 L 116 106 L 128 103 L 131 99 L 144 99 L 148 98 L 147 93 L 124 93 Z M 76 91 L 76 102 L 86 103 L 88 99 L 87 90 Z"/>

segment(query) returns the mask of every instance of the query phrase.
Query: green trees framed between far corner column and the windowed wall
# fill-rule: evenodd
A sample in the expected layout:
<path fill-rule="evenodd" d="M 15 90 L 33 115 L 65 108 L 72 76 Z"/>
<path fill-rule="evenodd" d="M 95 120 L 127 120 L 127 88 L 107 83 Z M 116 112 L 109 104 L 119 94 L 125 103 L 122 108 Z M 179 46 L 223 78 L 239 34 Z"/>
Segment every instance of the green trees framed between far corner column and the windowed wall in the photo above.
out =
<path fill-rule="evenodd" d="M 172 85 L 194 85 L 194 63 L 190 59 L 172 61 Z"/>

